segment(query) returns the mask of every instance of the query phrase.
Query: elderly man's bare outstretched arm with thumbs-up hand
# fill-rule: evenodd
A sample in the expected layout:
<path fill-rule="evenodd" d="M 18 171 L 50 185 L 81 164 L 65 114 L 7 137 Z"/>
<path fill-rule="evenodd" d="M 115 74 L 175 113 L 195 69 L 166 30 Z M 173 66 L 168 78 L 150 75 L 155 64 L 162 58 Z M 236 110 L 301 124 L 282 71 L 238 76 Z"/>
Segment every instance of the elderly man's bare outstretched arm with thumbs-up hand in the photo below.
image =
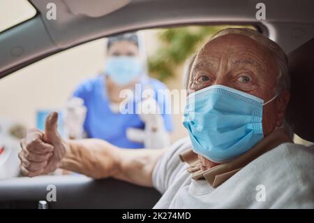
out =
<path fill-rule="evenodd" d="M 27 131 L 19 153 L 24 175 L 33 177 L 64 168 L 91 178 L 113 177 L 152 186 L 151 173 L 165 150 L 121 149 L 100 139 L 64 141 L 57 132 L 57 119 L 57 113 L 51 113 L 45 132 Z"/>

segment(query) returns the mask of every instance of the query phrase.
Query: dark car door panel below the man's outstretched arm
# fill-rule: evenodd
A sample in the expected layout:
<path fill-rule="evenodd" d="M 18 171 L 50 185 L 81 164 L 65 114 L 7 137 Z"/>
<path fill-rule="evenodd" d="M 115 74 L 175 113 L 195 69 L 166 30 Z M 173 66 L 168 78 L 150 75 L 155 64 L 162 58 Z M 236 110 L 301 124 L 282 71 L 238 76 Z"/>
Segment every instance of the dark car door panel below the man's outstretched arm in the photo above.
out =
<path fill-rule="evenodd" d="M 55 192 L 55 196 L 52 196 Z M 83 175 L 48 175 L 0 182 L 0 208 L 152 208 L 160 198 L 156 189 L 112 178 L 93 180 Z"/>

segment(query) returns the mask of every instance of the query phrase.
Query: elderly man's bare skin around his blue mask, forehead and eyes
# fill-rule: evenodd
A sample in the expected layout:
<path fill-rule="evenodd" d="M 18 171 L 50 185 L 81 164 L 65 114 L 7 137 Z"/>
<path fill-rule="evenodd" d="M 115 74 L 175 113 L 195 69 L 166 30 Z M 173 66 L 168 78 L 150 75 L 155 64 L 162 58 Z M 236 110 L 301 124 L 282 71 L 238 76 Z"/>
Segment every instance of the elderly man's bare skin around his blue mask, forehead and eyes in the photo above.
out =
<path fill-rule="evenodd" d="M 211 85 L 225 85 L 269 101 L 276 94 L 278 70 L 274 57 L 247 36 L 227 34 L 215 38 L 195 58 L 189 93 Z M 289 93 L 281 93 L 263 107 L 264 136 L 281 126 Z"/>

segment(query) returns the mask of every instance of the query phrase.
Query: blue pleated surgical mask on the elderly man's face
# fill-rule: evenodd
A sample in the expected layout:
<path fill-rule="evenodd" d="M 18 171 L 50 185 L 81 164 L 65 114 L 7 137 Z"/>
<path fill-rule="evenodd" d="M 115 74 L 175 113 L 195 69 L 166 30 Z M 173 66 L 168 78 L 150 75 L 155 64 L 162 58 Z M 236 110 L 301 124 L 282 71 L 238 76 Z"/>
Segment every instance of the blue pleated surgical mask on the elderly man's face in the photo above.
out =
<path fill-rule="evenodd" d="M 216 163 L 244 154 L 264 137 L 265 104 L 256 96 L 223 85 L 190 94 L 183 124 L 188 129 L 193 151 Z"/>

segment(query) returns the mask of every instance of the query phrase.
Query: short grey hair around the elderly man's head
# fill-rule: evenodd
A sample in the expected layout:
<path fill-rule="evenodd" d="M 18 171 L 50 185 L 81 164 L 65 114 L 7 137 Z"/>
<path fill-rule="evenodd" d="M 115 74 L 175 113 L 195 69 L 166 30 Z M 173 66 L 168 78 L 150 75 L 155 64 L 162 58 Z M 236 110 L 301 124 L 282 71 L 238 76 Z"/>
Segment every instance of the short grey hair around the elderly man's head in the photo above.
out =
<path fill-rule="evenodd" d="M 240 34 L 248 36 L 249 38 L 253 39 L 257 43 L 262 45 L 262 47 L 264 47 L 267 51 L 269 51 L 269 53 L 273 55 L 274 61 L 278 69 L 276 93 L 290 89 L 290 75 L 288 73 L 287 55 L 285 55 L 285 52 L 277 43 L 271 41 L 269 38 L 253 29 L 246 28 L 223 29 L 221 31 L 218 31 L 218 33 L 214 34 L 214 36 L 211 36 L 208 42 L 220 36 L 225 36 L 227 34 Z M 193 57 L 190 58 L 190 60 L 188 61 L 188 66 L 186 66 L 186 69 L 184 71 L 184 85 L 186 88 L 188 88 L 190 71 L 192 70 L 195 57 L 196 55 L 193 55 Z"/>

